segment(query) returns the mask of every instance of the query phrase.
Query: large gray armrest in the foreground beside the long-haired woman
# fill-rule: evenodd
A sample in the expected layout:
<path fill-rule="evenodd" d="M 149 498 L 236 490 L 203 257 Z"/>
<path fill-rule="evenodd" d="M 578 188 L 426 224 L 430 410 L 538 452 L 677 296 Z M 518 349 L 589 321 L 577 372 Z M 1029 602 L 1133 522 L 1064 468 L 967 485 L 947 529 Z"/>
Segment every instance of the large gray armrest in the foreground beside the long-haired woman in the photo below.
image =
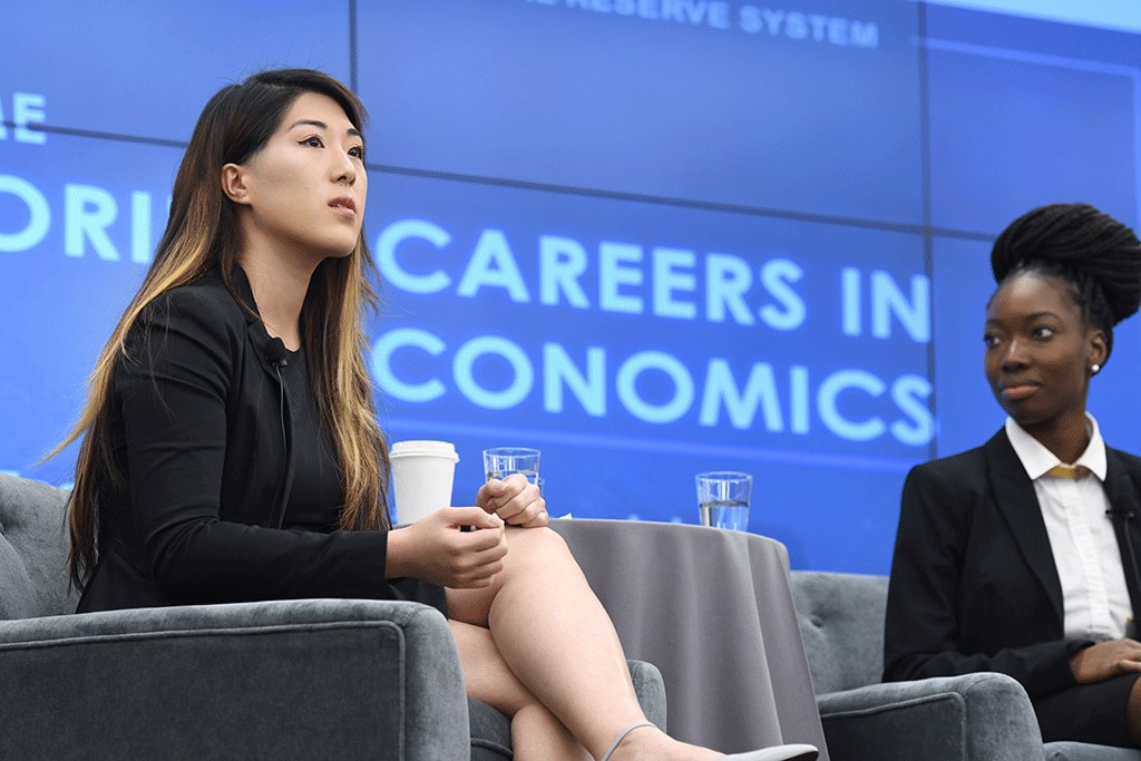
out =
<path fill-rule="evenodd" d="M 0 758 L 467 758 L 451 630 L 405 601 L 0 622 Z"/>

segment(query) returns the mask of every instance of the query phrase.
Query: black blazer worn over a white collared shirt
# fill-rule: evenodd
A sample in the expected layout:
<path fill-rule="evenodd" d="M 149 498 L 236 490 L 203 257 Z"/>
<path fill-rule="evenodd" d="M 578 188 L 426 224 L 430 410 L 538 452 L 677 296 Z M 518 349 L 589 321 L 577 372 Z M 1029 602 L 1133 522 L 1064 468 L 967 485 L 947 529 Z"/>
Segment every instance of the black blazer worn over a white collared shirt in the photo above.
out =
<path fill-rule="evenodd" d="M 1139 610 L 1124 532 L 1141 552 L 1141 459 L 1109 447 L 1106 456 L 1106 496 Z M 1005 430 L 981 447 L 912 469 L 888 589 L 884 680 L 997 671 L 1036 698 L 1075 685 L 1069 658 L 1089 643 L 1063 639 L 1046 526 Z"/>

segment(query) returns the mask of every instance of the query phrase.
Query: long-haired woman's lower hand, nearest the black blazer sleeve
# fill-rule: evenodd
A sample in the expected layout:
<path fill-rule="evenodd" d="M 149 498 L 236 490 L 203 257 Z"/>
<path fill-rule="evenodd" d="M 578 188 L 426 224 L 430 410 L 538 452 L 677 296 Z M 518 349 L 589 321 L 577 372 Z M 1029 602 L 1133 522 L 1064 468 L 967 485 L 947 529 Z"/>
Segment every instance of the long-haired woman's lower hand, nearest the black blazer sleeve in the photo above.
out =
<path fill-rule="evenodd" d="M 463 532 L 461 526 L 478 531 Z M 482 508 L 444 508 L 388 533 L 385 575 L 415 576 L 453 589 L 489 586 L 503 570 L 503 519 Z"/>

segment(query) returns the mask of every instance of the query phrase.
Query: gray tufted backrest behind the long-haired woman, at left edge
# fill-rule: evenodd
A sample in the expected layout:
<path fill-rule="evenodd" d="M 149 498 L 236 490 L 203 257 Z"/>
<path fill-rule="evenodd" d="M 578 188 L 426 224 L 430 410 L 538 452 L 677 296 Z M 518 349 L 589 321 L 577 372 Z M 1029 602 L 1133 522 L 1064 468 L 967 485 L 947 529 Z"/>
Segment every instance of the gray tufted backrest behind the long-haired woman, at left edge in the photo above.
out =
<path fill-rule="evenodd" d="M 67 492 L 0 473 L 0 620 L 74 613 L 67 591 Z"/>

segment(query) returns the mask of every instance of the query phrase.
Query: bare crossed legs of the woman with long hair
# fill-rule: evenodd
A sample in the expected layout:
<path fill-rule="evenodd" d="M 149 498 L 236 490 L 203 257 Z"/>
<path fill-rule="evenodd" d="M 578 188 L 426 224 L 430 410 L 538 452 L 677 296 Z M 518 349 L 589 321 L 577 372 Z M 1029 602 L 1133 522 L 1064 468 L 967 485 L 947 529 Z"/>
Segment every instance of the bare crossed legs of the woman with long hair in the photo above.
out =
<path fill-rule="evenodd" d="M 505 567 L 492 586 L 446 591 L 468 693 L 512 717 L 520 761 L 600 758 L 623 729 L 646 721 L 622 643 L 558 534 L 507 532 Z M 646 728 L 614 754 L 639 756 L 718 754 Z"/>

